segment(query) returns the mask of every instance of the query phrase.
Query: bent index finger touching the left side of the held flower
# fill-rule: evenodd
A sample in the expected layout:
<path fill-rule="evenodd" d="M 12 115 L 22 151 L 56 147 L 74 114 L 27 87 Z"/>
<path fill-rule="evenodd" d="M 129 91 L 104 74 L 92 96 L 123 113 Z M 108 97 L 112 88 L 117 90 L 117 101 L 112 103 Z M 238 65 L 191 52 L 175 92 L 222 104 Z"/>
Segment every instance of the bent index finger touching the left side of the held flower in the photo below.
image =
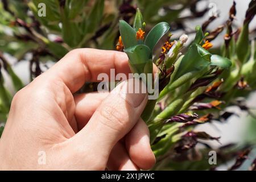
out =
<path fill-rule="evenodd" d="M 80 48 L 67 53 L 46 74 L 60 79 L 75 93 L 86 81 L 98 81 L 100 73 L 110 76 L 110 69 L 115 69 L 115 74 L 128 75 L 130 68 L 126 53 Z"/>

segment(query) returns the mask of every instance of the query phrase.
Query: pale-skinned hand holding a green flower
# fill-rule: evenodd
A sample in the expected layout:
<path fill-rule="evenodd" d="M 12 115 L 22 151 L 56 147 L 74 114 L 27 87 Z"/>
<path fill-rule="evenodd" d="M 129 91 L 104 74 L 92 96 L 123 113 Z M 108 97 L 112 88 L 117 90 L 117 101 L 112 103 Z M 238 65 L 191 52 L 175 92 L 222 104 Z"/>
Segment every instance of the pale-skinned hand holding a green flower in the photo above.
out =
<path fill-rule="evenodd" d="M 146 93 L 75 94 L 100 73 L 130 73 L 125 53 L 75 49 L 15 94 L 0 139 L 0 169 L 150 169 L 155 156 L 140 115 Z M 39 151 L 46 164 L 38 163 Z"/>

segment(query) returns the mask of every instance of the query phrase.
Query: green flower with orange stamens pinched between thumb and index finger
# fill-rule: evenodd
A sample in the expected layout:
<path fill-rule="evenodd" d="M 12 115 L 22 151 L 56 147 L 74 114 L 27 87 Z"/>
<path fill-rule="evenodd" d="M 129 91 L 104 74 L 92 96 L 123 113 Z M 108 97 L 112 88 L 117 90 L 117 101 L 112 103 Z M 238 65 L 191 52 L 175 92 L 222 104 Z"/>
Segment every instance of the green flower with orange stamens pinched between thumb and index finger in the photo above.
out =
<path fill-rule="evenodd" d="M 123 51 L 129 57 L 131 71 L 133 73 L 152 73 L 152 55 L 156 43 L 165 35 L 170 26 L 166 22 L 158 23 L 148 32 L 144 32 L 145 23 L 142 14 L 137 9 L 133 27 L 124 20 L 119 21 Z M 120 44 L 120 43 L 119 43 Z M 119 48 L 119 47 L 118 47 Z"/>

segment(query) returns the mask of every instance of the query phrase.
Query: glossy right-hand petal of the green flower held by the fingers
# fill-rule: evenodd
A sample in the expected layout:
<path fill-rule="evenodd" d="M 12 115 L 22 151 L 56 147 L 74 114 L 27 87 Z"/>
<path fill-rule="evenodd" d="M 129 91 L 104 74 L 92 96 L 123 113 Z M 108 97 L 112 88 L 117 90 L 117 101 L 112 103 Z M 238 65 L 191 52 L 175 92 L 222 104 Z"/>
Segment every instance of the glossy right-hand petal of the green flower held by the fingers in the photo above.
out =
<path fill-rule="evenodd" d="M 155 27 L 151 29 L 148 33 L 144 44 L 153 51 L 155 45 L 159 42 L 159 40 L 170 30 L 170 25 L 166 22 L 161 22 L 156 24 Z"/>

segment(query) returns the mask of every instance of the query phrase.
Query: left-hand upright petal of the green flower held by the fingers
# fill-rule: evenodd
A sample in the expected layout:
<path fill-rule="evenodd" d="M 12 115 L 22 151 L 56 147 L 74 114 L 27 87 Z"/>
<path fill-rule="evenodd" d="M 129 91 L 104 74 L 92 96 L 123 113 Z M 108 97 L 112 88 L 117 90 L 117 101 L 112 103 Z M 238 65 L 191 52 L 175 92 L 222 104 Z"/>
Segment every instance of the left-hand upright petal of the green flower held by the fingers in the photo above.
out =
<path fill-rule="evenodd" d="M 119 31 L 122 37 L 123 46 L 125 48 L 133 47 L 138 44 L 136 39 L 136 31 L 124 20 L 119 20 Z"/>

